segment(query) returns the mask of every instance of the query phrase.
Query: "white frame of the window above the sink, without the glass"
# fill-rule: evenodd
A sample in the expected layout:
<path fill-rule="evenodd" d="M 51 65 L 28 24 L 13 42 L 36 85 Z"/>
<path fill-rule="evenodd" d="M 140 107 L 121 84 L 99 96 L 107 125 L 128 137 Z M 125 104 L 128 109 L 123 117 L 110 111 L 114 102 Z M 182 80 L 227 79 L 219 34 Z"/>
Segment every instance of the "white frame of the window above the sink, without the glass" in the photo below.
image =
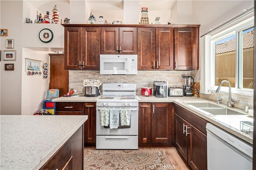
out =
<path fill-rule="evenodd" d="M 210 50 L 206 51 L 206 55 L 205 55 L 205 63 L 208 63 L 210 60 L 210 67 L 205 67 L 206 72 L 207 69 L 209 69 L 208 71 L 210 71 L 210 83 L 205 85 L 205 92 L 206 94 L 210 94 L 209 92 L 207 92 L 207 89 L 212 89 L 212 90 L 216 90 L 218 88 L 218 86 L 215 86 L 215 42 L 224 39 L 226 37 L 229 37 L 231 35 L 236 35 L 236 43 L 238 43 L 239 39 L 238 39 L 238 33 L 239 31 L 243 31 L 245 29 L 249 29 L 251 27 L 254 27 L 254 16 L 250 17 L 244 21 L 241 21 L 240 23 L 237 23 L 236 25 L 232 25 L 232 26 L 226 26 L 224 29 L 222 29 L 222 31 L 218 31 L 218 33 L 213 33 L 210 36 L 210 38 L 206 38 L 205 39 L 205 47 L 208 46 L 208 44 L 210 45 Z M 254 28 L 255 31 L 255 28 Z M 238 46 L 236 45 L 236 51 L 238 51 Z M 239 59 L 239 55 L 236 52 L 236 70 L 238 70 L 238 59 Z M 235 80 L 236 80 L 236 85 L 234 88 L 231 88 L 232 93 L 235 94 L 246 94 L 246 95 L 253 95 L 253 91 L 254 89 L 245 89 L 245 88 L 238 88 L 238 72 L 236 71 L 235 74 Z M 240 72 L 242 74 L 242 72 Z M 204 77 L 206 77 L 206 75 L 203 75 Z M 221 92 L 228 92 L 228 87 L 222 87 L 221 88 Z"/>

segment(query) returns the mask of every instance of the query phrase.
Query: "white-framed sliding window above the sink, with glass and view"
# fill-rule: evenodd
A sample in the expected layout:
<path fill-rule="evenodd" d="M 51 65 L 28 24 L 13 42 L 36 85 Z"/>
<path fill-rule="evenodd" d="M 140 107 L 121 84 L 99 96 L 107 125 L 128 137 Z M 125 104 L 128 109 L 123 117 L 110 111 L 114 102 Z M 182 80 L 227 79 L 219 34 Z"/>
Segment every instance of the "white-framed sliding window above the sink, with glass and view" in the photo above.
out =
<path fill-rule="evenodd" d="M 239 23 L 211 36 L 214 66 L 213 86 L 228 80 L 232 88 L 252 91 L 254 67 L 254 23 L 253 20 Z M 223 84 L 222 86 L 228 86 Z"/>

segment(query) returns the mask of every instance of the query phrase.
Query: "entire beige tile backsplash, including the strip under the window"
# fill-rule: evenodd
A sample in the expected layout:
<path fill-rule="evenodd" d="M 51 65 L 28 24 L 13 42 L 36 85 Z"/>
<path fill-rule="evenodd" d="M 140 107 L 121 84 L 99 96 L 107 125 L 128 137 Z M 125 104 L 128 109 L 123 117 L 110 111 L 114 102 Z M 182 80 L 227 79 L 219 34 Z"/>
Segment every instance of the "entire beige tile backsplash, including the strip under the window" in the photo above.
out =
<path fill-rule="evenodd" d="M 137 85 L 136 94 L 140 95 L 141 86 L 153 87 L 153 81 L 168 81 L 168 86 L 183 87 L 182 75 L 193 76 L 194 82 L 200 81 L 200 70 L 191 71 L 176 71 L 176 70 L 138 70 L 136 75 L 102 75 L 100 70 L 69 70 L 69 86 L 75 88 L 82 93 L 83 82 L 85 79 L 100 80 L 103 83 L 135 83 Z M 102 86 L 100 86 L 102 91 Z M 217 101 L 214 94 L 202 94 L 200 98 L 211 101 Z M 222 104 L 226 104 L 228 100 L 228 93 L 218 94 L 222 100 Z M 244 106 L 253 108 L 253 96 L 232 94 L 232 99 L 235 102 L 234 107 L 244 109 Z"/>

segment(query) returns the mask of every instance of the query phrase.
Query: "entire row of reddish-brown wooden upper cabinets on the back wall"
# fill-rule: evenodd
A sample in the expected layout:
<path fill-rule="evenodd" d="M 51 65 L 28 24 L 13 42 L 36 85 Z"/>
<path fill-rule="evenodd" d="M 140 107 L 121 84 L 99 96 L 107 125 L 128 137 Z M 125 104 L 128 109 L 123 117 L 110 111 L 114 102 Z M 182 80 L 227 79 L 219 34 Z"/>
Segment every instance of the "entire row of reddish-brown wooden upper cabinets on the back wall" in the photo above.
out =
<path fill-rule="evenodd" d="M 200 25 L 62 24 L 65 69 L 100 69 L 100 54 L 138 55 L 138 70 L 197 70 Z"/>

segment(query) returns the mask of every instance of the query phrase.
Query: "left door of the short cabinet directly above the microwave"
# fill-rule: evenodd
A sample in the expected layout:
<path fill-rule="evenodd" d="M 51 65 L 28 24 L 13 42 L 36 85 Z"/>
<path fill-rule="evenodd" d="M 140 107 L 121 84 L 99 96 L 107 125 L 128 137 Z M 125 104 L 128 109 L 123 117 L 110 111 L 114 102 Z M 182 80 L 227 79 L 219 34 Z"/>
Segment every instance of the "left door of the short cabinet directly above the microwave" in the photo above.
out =
<path fill-rule="evenodd" d="M 102 27 L 100 44 L 101 54 L 118 54 L 117 50 L 119 49 L 119 28 Z"/>

